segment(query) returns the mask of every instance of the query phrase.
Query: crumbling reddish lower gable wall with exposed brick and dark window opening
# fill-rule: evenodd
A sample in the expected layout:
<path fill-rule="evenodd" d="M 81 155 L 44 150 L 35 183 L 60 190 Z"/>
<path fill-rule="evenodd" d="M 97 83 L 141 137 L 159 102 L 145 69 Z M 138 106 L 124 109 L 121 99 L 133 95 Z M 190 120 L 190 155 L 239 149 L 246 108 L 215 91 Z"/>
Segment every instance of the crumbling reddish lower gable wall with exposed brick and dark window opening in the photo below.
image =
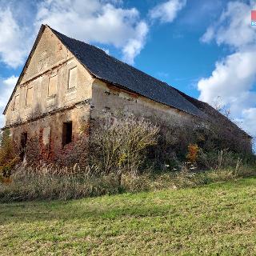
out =
<path fill-rule="evenodd" d="M 72 122 L 72 142 L 62 143 L 63 123 Z M 14 145 L 21 150 L 21 134 L 27 133 L 26 162 L 54 163 L 59 166 L 86 164 L 89 150 L 90 104 L 84 103 L 68 110 L 47 114 L 42 118 L 10 128 Z"/>

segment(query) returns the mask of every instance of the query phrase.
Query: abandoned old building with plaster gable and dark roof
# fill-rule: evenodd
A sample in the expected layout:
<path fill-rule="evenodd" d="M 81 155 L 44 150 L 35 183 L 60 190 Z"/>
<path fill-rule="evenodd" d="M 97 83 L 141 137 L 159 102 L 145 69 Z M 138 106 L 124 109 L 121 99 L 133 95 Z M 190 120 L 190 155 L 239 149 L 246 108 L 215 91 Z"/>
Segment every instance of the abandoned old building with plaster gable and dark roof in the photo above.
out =
<path fill-rule="evenodd" d="M 76 162 L 80 151 L 89 154 L 92 124 L 118 112 L 186 126 L 190 133 L 213 124 L 229 146 L 251 151 L 250 135 L 207 103 L 46 25 L 4 110 L 3 130 L 10 130 L 17 149 L 27 147 L 22 158 L 65 163 L 65 154 L 75 152 L 69 161 Z"/>

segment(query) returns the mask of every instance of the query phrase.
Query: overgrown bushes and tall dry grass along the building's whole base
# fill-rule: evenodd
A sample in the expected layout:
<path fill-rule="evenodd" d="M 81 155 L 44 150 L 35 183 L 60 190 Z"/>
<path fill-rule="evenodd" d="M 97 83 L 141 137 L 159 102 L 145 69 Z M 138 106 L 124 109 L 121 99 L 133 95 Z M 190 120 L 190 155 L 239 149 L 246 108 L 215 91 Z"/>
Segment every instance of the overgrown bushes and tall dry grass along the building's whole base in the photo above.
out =
<path fill-rule="evenodd" d="M 191 136 L 186 136 L 184 130 L 179 133 L 185 137 L 182 157 L 175 154 L 177 142 L 170 143 L 172 134 L 161 132 L 158 125 L 134 116 L 106 118 L 92 129 L 90 159 L 85 166 L 80 166 L 81 159 L 77 159 L 74 166 L 42 163 L 32 167 L 22 163 L 16 168 L 18 158 L 9 134 L 3 134 L 0 202 L 176 190 L 256 174 L 254 155 L 207 150 L 195 144 L 199 137 L 192 138 L 191 132 Z M 83 142 L 77 146 L 83 149 Z"/>

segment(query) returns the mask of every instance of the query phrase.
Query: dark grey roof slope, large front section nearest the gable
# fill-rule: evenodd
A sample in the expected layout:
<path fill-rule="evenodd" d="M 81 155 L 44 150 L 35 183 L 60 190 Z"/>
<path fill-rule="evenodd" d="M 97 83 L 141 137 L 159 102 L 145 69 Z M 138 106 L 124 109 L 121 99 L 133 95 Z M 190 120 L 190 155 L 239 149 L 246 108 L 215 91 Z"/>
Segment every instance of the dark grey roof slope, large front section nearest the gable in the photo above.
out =
<path fill-rule="evenodd" d="M 95 46 L 90 46 L 85 42 L 69 38 L 56 30 L 51 30 L 96 78 L 121 86 L 156 102 L 204 118 L 205 115 L 198 107 L 194 106 L 166 82 L 159 81 L 141 70 L 111 57 Z"/>

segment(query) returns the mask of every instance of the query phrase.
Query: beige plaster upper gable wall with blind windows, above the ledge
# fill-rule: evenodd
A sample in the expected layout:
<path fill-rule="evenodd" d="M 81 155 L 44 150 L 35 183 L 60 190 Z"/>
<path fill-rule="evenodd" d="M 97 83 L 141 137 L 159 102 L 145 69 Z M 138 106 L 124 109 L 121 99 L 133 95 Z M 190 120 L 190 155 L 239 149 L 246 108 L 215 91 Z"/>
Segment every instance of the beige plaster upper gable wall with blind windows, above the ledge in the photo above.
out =
<path fill-rule="evenodd" d="M 6 126 L 91 98 L 92 81 L 86 69 L 46 27 L 6 111 Z"/>

